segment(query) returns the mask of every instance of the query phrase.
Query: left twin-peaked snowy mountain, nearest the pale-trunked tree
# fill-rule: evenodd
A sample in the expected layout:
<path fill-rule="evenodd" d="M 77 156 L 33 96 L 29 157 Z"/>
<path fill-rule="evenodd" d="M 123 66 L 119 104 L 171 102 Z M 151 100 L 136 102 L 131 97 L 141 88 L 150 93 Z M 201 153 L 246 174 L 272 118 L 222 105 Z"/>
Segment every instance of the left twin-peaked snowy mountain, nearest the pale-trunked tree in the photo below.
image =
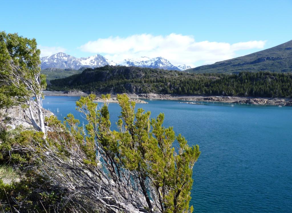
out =
<path fill-rule="evenodd" d="M 41 69 L 59 68 L 59 69 L 75 69 L 81 67 L 102 67 L 108 65 L 105 57 L 97 54 L 86 58 L 75 58 L 66 53 L 57 53 L 51 56 L 41 57 Z"/>

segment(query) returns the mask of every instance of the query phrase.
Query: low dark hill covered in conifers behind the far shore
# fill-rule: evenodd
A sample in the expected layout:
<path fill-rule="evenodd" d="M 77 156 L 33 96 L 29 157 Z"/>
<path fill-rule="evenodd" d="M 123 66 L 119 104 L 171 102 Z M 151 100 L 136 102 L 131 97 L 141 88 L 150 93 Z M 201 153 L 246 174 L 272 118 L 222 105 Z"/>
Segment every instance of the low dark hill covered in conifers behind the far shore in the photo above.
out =
<path fill-rule="evenodd" d="M 194 74 L 141 67 L 105 66 L 51 80 L 47 89 L 94 93 L 290 97 L 292 75 L 271 72 Z"/>

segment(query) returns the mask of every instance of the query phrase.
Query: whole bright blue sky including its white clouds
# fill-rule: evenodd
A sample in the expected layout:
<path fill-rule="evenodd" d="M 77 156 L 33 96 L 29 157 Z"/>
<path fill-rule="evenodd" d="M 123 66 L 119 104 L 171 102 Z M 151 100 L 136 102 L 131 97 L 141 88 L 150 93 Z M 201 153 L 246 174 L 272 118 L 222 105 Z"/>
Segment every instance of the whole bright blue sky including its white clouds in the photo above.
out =
<path fill-rule="evenodd" d="M 36 38 L 42 56 L 162 56 L 198 66 L 292 39 L 291 0 L 10 0 L 1 8 L 0 30 Z"/>

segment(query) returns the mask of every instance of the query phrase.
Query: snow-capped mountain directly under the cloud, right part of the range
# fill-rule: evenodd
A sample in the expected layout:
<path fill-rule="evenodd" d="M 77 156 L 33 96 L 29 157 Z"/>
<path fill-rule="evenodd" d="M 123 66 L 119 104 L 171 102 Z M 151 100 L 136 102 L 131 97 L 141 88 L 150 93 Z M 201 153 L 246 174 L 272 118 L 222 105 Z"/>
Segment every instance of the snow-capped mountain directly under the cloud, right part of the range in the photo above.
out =
<path fill-rule="evenodd" d="M 118 62 L 117 65 L 159 68 L 165 70 L 180 70 L 178 67 L 172 65 L 168 60 L 162 57 L 157 58 L 141 57 L 137 59 L 125 59 L 121 62 Z"/>

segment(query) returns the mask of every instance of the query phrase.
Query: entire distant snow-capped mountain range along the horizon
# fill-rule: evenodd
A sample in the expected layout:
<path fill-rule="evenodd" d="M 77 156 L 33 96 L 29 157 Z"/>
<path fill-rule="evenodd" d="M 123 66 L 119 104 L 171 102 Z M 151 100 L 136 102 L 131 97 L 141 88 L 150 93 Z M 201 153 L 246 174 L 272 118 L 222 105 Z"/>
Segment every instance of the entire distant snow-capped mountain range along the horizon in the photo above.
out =
<path fill-rule="evenodd" d="M 74 69 L 79 70 L 81 67 L 103 67 L 105 65 L 122 65 L 135 67 L 160 68 L 164 70 L 179 70 L 183 71 L 191 68 L 187 65 L 172 65 L 168 60 L 162 57 L 148 58 L 141 57 L 138 59 L 125 59 L 121 62 L 114 63 L 107 60 L 105 57 L 96 54 L 86 58 L 75 58 L 66 53 L 56 53 L 51 56 L 41 57 L 41 69 L 58 68 L 58 69 Z"/>

